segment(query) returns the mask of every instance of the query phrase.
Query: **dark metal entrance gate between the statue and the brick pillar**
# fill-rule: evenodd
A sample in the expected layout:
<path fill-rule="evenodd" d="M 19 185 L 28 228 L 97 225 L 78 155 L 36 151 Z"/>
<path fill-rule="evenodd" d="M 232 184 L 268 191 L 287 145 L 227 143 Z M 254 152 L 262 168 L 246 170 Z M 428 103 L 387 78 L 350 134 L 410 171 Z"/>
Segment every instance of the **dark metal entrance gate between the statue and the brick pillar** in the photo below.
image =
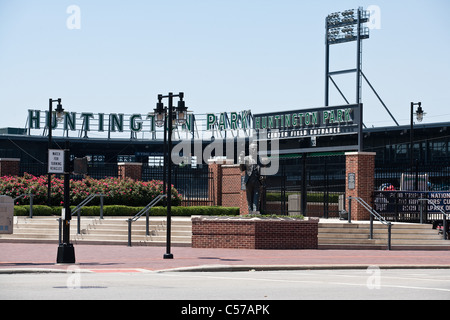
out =
<path fill-rule="evenodd" d="M 289 155 L 279 160 L 278 174 L 266 177 L 263 213 L 339 217 L 345 197 L 343 153 Z"/>

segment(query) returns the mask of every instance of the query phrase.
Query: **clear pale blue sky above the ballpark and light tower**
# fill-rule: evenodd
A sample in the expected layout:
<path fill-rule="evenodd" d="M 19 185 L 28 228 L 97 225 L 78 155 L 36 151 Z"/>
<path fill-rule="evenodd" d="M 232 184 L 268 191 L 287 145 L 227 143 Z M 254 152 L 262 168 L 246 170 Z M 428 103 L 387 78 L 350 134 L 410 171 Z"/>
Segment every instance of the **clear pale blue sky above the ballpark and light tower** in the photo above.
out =
<path fill-rule="evenodd" d="M 80 29 L 69 29 L 70 5 Z M 400 124 L 410 102 L 424 122 L 450 121 L 448 0 L 0 0 L 0 127 L 62 98 L 75 112 L 152 111 L 185 93 L 194 113 L 324 105 L 325 17 L 376 5 L 363 71 Z M 354 68 L 355 43 L 331 47 L 331 70 Z M 354 75 L 336 76 L 355 100 Z M 363 83 L 366 126 L 394 125 Z M 344 103 L 331 88 L 330 105 Z"/>

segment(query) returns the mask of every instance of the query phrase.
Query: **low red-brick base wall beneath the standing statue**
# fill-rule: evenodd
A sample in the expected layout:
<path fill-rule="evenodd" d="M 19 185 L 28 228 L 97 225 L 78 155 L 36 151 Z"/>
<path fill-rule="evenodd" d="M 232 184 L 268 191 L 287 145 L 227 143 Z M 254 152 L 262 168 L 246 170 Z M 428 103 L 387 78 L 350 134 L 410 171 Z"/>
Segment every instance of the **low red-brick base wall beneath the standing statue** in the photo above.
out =
<path fill-rule="evenodd" d="M 317 249 L 318 219 L 192 218 L 193 248 Z"/>

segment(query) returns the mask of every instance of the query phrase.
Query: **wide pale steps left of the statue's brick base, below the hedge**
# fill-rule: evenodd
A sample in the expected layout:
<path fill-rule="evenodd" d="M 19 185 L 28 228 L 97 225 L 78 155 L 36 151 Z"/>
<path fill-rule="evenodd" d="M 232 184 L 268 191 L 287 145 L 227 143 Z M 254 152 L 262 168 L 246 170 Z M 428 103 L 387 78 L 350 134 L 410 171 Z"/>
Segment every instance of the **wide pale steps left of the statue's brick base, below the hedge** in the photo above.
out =
<path fill-rule="evenodd" d="M 128 217 L 81 217 L 80 234 L 77 219 L 71 220 L 70 239 L 73 244 L 128 244 Z M 1 234 L 3 242 L 58 243 L 59 222 L 56 217 L 14 217 L 14 233 Z M 132 245 L 164 246 L 166 244 L 166 217 L 151 217 L 149 236 L 145 235 L 145 219 L 133 222 Z M 172 217 L 171 244 L 191 245 L 191 218 Z"/>

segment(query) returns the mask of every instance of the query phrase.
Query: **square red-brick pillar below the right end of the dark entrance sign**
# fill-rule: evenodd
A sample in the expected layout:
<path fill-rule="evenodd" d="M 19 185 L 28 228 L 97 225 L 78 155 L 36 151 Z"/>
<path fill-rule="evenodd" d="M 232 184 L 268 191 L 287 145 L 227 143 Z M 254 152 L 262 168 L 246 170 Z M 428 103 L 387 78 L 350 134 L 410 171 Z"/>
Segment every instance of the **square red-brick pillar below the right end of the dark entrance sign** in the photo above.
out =
<path fill-rule="evenodd" d="M 372 206 L 372 193 L 375 178 L 375 152 L 347 152 L 346 166 L 346 209 L 348 197 L 359 197 Z M 352 200 L 352 220 L 369 220 L 370 213 L 355 200 Z"/>

